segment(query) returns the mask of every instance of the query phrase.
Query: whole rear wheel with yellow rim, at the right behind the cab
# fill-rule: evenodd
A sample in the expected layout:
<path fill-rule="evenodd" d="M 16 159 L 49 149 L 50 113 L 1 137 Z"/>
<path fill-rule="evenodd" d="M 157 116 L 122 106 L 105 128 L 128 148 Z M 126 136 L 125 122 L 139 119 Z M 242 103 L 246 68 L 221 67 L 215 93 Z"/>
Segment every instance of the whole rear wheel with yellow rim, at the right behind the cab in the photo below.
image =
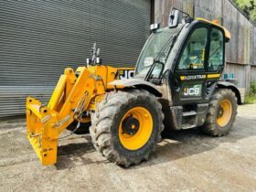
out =
<path fill-rule="evenodd" d="M 206 123 L 199 130 L 211 136 L 229 133 L 237 116 L 237 98 L 229 89 L 219 89 L 209 101 Z"/>

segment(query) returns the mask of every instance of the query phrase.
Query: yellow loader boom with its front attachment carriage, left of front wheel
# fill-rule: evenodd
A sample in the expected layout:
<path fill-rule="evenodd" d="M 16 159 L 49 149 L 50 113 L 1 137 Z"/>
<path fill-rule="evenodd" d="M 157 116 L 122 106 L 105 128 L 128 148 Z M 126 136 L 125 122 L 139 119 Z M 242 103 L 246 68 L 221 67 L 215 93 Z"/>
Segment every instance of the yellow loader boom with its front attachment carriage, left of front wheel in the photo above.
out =
<path fill-rule="evenodd" d="M 70 123 L 74 120 L 90 122 L 90 112 L 95 111 L 105 93 L 123 88 L 109 85 L 109 82 L 123 77 L 125 70 L 133 69 L 90 66 L 74 71 L 67 68 L 60 76 L 48 106 L 27 97 L 27 138 L 42 165 L 56 163 L 59 134 Z"/>

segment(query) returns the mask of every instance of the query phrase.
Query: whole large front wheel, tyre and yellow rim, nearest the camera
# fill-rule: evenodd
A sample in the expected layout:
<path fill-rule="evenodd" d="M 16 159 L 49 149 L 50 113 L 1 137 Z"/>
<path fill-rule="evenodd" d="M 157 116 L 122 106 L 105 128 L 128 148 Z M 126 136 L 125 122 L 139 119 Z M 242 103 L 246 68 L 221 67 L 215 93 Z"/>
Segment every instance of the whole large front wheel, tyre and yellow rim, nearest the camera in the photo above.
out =
<path fill-rule="evenodd" d="M 163 120 L 160 102 L 148 91 L 110 92 L 91 114 L 91 141 L 97 151 L 115 164 L 135 165 L 147 160 L 155 150 L 164 130 Z M 136 132 L 129 128 L 129 121 L 131 127 L 136 124 Z"/>

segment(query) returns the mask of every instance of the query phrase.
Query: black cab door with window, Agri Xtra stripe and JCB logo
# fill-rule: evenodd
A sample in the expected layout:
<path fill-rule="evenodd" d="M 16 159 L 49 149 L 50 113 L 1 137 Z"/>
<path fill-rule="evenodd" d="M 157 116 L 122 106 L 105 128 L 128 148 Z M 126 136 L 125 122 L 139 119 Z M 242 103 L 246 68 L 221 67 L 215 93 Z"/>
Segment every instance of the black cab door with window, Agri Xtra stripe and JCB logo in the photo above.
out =
<path fill-rule="evenodd" d="M 181 49 L 170 79 L 174 105 L 206 102 L 208 36 L 208 27 L 195 27 Z"/>

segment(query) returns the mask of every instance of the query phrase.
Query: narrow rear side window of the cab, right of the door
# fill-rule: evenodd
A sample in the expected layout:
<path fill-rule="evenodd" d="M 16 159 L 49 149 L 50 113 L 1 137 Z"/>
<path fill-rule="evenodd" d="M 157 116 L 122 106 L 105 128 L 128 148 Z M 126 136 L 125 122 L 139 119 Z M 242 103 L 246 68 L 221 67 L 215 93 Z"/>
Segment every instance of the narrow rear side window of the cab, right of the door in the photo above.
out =
<path fill-rule="evenodd" d="M 209 58 L 208 58 L 208 70 L 216 71 L 219 66 L 224 65 L 223 59 L 223 33 L 213 28 L 210 33 L 210 47 L 209 47 Z"/>

